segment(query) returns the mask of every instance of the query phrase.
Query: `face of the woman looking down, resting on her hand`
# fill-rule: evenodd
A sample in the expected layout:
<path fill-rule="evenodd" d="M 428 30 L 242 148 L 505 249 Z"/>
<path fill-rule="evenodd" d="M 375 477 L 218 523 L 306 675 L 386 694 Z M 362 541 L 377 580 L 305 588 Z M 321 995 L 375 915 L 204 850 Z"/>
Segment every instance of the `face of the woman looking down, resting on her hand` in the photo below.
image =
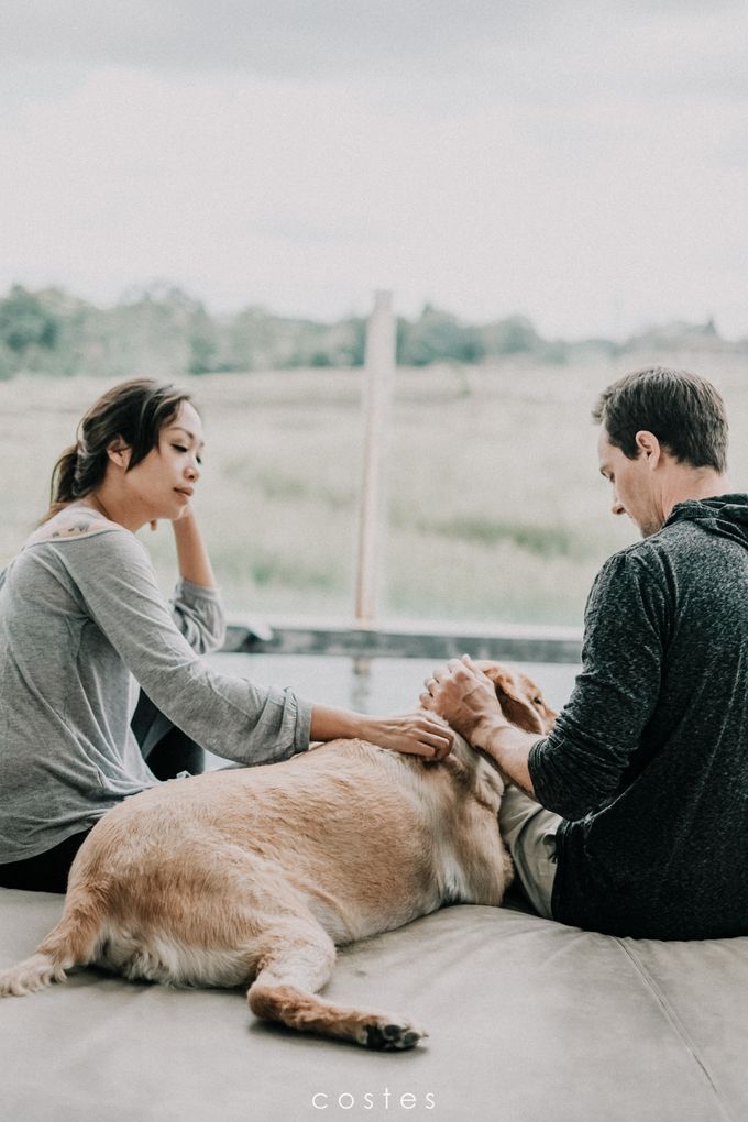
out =
<path fill-rule="evenodd" d="M 123 476 L 130 500 L 141 507 L 148 521 L 175 522 L 190 508 L 200 479 L 203 444 L 200 414 L 190 402 L 183 402 L 158 434 L 158 445 Z"/>

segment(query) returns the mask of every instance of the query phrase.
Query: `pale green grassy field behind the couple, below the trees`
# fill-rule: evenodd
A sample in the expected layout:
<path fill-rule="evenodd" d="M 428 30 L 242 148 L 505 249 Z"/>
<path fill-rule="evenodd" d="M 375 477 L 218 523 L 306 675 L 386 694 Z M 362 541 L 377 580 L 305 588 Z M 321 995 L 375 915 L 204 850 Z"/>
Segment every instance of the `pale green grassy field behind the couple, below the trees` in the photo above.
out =
<path fill-rule="evenodd" d="M 731 419 L 731 484 L 748 490 L 748 368 L 658 356 L 711 378 Z M 630 359 L 626 369 L 630 368 Z M 598 475 L 595 394 L 613 364 L 400 369 L 387 445 L 380 615 L 581 624 L 600 563 L 636 539 Z M 230 613 L 352 615 L 363 442 L 362 374 L 187 379 L 206 441 L 196 507 Z M 0 383 L 0 564 L 46 507 L 58 452 L 109 383 Z M 169 527 L 141 536 L 165 590 Z"/>

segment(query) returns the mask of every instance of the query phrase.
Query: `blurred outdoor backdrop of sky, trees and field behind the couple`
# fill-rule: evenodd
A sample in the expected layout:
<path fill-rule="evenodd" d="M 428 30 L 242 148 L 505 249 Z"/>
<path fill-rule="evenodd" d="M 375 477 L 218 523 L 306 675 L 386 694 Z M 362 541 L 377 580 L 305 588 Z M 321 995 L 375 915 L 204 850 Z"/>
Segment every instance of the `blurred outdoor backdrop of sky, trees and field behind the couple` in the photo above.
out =
<path fill-rule="evenodd" d="M 609 381 L 713 380 L 748 488 L 747 31 L 719 0 L 4 0 L 0 564 L 85 407 L 155 375 L 205 415 L 232 615 L 350 619 L 384 287 L 379 615 L 580 626 L 636 539 Z"/>

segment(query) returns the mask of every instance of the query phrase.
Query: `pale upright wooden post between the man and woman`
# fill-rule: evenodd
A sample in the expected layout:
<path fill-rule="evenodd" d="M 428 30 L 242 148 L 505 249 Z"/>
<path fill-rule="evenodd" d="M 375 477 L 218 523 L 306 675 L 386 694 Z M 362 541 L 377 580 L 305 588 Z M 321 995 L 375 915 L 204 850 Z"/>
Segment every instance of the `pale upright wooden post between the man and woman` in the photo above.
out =
<path fill-rule="evenodd" d="M 370 627 L 377 611 L 377 580 L 385 515 L 384 458 L 395 384 L 395 321 L 391 292 L 378 292 L 366 349 L 367 419 L 355 581 L 355 625 Z"/>

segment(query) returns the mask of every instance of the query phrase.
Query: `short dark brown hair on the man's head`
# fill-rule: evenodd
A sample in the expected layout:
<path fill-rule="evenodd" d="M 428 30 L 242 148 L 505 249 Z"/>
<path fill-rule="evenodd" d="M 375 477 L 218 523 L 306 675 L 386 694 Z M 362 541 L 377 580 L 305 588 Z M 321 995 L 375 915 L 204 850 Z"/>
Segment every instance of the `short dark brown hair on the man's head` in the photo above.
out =
<path fill-rule="evenodd" d="M 661 444 L 694 468 L 727 470 L 724 402 L 710 381 L 687 370 L 652 366 L 619 378 L 598 397 L 592 420 L 629 460 L 639 454 L 636 434 L 654 433 Z"/>

